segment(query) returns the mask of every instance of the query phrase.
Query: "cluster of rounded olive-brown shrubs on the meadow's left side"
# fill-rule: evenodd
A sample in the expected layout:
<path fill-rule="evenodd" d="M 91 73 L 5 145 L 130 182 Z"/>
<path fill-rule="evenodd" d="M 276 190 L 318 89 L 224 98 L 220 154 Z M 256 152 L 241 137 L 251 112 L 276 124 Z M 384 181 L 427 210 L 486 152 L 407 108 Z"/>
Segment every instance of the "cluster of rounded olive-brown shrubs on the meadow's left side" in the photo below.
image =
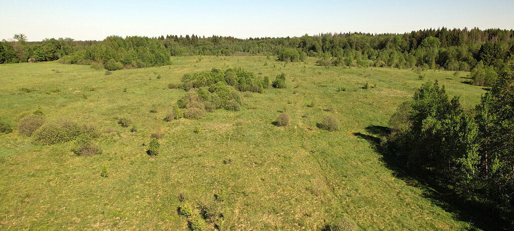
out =
<path fill-rule="evenodd" d="M 23 112 L 16 117 L 18 132 L 32 137 L 35 145 L 53 145 L 75 140 L 71 151 L 77 155 L 101 154 L 100 146 L 93 139 L 100 131 L 93 123 L 79 123 L 67 118 L 47 121 L 41 110 Z"/>

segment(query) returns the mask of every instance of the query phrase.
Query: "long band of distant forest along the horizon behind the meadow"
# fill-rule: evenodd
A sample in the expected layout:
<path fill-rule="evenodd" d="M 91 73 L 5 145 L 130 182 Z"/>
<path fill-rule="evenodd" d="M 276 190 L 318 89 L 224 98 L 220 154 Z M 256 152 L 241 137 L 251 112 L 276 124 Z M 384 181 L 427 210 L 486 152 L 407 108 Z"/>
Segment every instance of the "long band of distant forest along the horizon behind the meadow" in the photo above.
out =
<path fill-rule="evenodd" d="M 0 43 L 0 63 L 52 61 L 108 70 L 170 64 L 170 56 L 277 55 L 281 61 L 318 57 L 325 66 L 394 67 L 472 71 L 473 83 L 491 86 L 514 54 L 512 30 L 425 29 L 403 34 L 325 33 L 293 38 L 197 35 L 107 37 L 103 41 L 46 39 L 27 42 L 24 34 Z"/>

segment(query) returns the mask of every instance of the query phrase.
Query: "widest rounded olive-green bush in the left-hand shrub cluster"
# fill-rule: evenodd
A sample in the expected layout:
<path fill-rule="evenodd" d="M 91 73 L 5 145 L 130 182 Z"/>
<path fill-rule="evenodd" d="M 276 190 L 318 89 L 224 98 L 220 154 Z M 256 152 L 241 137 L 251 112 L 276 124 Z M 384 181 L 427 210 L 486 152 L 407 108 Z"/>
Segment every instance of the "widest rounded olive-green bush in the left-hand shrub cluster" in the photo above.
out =
<path fill-rule="evenodd" d="M 45 123 L 32 134 L 32 143 L 36 145 L 53 145 L 65 143 L 80 135 L 81 129 L 76 122 L 58 119 Z"/>

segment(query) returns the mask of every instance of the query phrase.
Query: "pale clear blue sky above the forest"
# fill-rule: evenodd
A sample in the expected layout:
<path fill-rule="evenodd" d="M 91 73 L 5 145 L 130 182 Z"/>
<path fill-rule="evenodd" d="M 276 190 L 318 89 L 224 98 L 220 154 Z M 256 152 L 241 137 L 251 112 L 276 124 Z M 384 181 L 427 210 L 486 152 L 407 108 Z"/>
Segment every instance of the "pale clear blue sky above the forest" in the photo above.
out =
<path fill-rule="evenodd" d="M 7 1 L 0 39 L 197 34 L 286 37 L 424 28 L 514 28 L 514 1 Z"/>

